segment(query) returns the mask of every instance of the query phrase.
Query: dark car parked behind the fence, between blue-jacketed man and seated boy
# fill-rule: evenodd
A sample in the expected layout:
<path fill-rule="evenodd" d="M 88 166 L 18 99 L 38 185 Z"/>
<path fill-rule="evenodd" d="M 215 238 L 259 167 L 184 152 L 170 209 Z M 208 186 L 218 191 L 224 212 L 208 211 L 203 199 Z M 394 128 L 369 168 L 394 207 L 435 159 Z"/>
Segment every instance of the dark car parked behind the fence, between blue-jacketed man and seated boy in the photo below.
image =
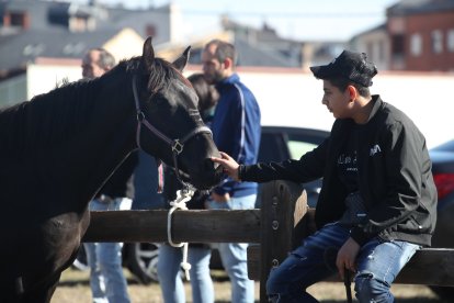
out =
<path fill-rule="evenodd" d="M 259 150 L 259 161 L 280 161 L 285 159 L 298 159 L 303 154 L 319 145 L 329 132 L 287 126 L 263 126 Z M 321 181 L 303 184 L 307 192 L 308 204 L 315 206 Z M 257 206 L 260 207 L 261 188 Z M 158 245 L 152 243 L 125 243 L 123 247 L 123 266 L 135 276 L 141 283 L 157 281 Z M 212 266 L 222 268 L 217 251 L 212 254 Z M 86 270 L 87 260 L 83 247 L 73 267 Z"/>

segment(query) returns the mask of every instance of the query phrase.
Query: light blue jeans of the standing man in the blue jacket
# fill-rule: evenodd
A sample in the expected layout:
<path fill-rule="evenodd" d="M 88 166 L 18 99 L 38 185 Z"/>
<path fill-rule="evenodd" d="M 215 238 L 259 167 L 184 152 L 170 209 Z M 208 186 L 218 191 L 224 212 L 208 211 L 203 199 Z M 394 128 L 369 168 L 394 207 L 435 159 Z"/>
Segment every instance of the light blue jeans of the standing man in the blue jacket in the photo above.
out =
<path fill-rule="evenodd" d="M 230 198 L 227 202 L 209 201 L 212 210 L 249 210 L 256 205 L 256 194 Z M 231 302 L 254 302 L 254 282 L 248 278 L 248 256 L 246 243 L 219 243 L 218 247 L 223 266 L 231 281 Z"/>

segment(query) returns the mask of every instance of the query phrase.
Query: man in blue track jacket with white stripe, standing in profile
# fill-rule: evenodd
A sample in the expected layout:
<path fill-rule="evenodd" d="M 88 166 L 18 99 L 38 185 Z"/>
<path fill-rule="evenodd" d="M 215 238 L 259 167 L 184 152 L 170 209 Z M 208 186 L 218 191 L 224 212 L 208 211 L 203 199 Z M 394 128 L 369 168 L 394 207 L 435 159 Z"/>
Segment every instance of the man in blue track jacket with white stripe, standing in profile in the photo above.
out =
<path fill-rule="evenodd" d="M 260 145 L 260 109 L 252 92 L 235 72 L 234 45 L 211 41 L 202 53 L 205 79 L 215 85 L 219 100 L 212 122 L 213 138 L 219 150 L 231 155 L 239 164 L 257 161 Z M 212 191 L 208 207 L 253 209 L 258 184 L 225 179 Z M 231 302 L 253 302 L 254 285 L 248 278 L 247 244 L 219 244 L 224 267 L 232 283 Z"/>

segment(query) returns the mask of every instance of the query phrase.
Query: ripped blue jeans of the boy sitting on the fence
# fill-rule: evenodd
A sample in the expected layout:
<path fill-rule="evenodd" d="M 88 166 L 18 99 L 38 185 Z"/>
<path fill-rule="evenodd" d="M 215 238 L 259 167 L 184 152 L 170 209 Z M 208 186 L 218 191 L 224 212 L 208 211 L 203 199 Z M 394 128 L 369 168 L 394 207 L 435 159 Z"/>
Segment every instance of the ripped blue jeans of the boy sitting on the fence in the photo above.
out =
<path fill-rule="evenodd" d="M 349 228 L 327 224 L 276 268 L 266 282 L 270 302 L 318 302 L 306 289 L 337 274 L 337 251 L 350 237 Z M 373 238 L 356 258 L 354 291 L 360 302 L 394 302 L 389 289 L 396 276 L 420 248 L 407 242 L 384 242 Z"/>

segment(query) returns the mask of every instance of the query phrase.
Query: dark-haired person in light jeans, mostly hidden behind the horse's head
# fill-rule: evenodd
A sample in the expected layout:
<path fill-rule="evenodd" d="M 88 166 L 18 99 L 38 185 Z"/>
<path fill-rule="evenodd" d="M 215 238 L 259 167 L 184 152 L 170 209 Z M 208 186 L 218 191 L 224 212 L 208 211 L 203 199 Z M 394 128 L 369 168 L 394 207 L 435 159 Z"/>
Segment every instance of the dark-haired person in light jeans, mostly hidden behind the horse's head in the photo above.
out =
<path fill-rule="evenodd" d="M 206 82 L 202 74 L 192 74 L 188 77 L 198 97 L 198 111 L 203 122 L 209 126 L 216 108 L 218 94 L 215 88 Z M 168 202 L 177 199 L 177 191 L 182 184 L 174 176 L 174 170 L 164 169 L 163 197 Z M 205 209 L 207 193 L 196 191 L 186 203 L 190 210 Z M 170 205 L 170 203 L 169 203 Z M 188 261 L 191 265 L 190 279 L 192 287 L 193 303 L 213 303 L 214 287 L 209 276 L 209 259 L 212 250 L 208 245 L 190 243 L 188 247 Z M 158 279 L 162 291 L 162 299 L 166 303 L 184 303 L 185 291 L 181 277 L 181 262 L 183 251 L 181 247 L 173 247 L 163 243 L 159 246 Z"/>

